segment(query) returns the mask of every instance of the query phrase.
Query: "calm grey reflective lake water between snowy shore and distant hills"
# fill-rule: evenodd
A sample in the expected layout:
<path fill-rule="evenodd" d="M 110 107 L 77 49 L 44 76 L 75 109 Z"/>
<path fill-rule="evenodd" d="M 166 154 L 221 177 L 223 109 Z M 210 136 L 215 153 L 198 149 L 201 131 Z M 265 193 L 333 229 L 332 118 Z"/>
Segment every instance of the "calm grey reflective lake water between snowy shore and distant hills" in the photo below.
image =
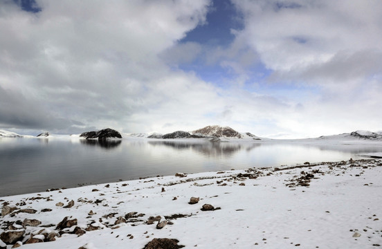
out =
<path fill-rule="evenodd" d="M 377 151 L 382 146 L 0 138 L 0 196 L 176 172 L 349 160 Z"/>

